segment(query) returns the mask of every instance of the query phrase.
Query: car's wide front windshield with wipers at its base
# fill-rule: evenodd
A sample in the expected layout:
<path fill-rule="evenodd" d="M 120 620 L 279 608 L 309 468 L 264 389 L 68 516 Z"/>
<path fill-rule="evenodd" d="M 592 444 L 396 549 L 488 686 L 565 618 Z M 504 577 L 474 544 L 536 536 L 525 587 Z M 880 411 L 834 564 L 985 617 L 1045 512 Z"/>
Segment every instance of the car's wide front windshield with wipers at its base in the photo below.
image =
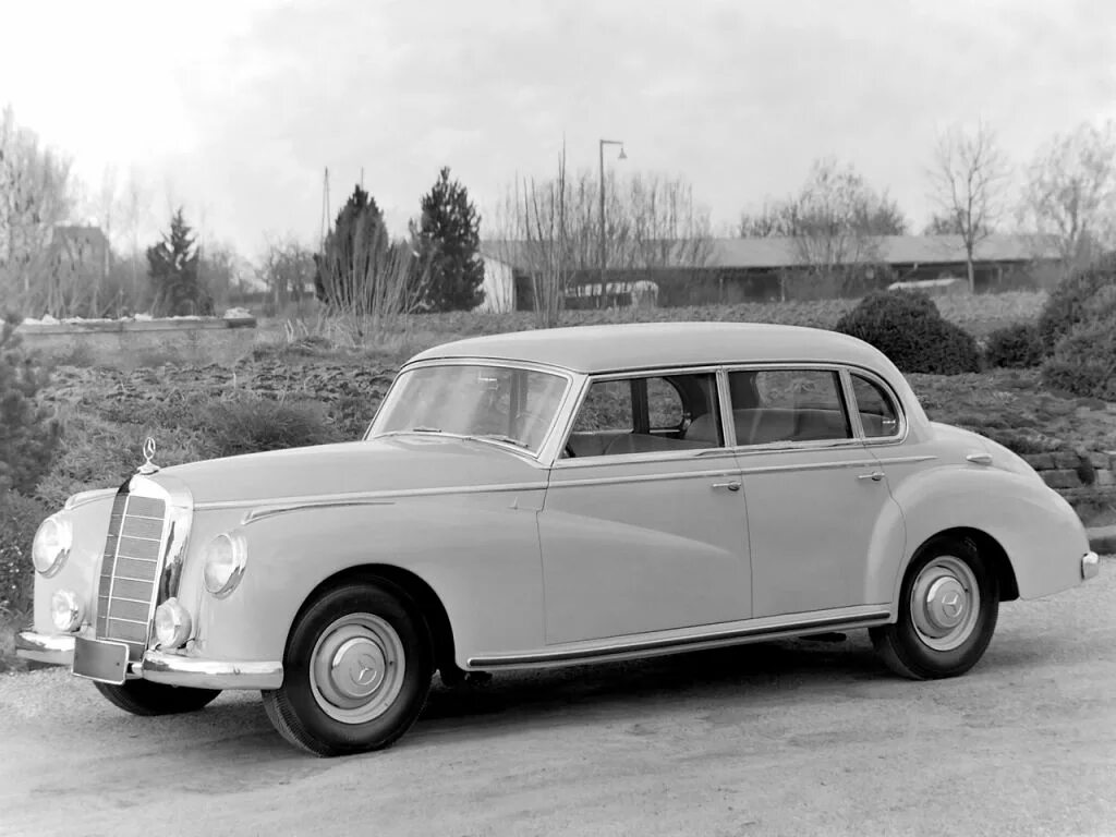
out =
<path fill-rule="evenodd" d="M 402 373 L 369 435 L 449 433 L 537 453 L 567 381 L 510 366 L 452 364 Z"/>

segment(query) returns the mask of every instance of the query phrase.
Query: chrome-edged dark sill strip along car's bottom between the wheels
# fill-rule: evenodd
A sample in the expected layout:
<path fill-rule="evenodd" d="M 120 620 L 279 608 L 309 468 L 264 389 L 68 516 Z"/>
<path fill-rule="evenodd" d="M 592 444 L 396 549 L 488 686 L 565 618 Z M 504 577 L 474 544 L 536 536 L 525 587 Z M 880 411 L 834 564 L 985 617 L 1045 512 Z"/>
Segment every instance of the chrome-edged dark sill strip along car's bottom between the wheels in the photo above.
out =
<path fill-rule="evenodd" d="M 846 628 L 852 631 L 854 628 L 883 625 L 888 620 L 891 620 L 891 614 L 887 610 L 869 610 L 856 616 L 826 616 L 782 624 L 749 625 L 705 634 L 614 643 L 591 648 L 543 651 L 531 654 L 493 654 L 491 656 L 470 657 L 469 666 L 474 668 L 540 668 L 570 665 L 579 662 L 588 663 L 613 658 L 653 656 L 696 648 L 713 648 L 721 645 L 760 642 L 795 634 L 814 633 L 821 629 Z"/>

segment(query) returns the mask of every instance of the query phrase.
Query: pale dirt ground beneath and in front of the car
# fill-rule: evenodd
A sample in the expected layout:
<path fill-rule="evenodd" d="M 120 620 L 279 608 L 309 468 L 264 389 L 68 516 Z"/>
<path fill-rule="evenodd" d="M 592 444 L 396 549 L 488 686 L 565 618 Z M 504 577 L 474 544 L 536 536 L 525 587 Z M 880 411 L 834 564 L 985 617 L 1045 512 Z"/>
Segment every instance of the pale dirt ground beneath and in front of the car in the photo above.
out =
<path fill-rule="evenodd" d="M 436 687 L 392 750 L 302 756 L 257 694 L 123 714 L 0 676 L 8 835 L 1116 835 L 1116 561 L 1001 609 L 964 677 L 864 632 Z"/>

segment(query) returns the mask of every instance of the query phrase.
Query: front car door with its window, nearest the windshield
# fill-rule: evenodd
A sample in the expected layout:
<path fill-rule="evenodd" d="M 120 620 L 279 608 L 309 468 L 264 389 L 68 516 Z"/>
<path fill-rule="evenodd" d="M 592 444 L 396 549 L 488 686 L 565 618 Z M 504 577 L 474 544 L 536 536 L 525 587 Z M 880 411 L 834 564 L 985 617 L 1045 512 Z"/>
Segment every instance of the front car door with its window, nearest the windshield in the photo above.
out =
<path fill-rule="evenodd" d="M 747 514 L 715 372 L 590 379 L 539 536 L 548 644 L 747 618 Z"/>

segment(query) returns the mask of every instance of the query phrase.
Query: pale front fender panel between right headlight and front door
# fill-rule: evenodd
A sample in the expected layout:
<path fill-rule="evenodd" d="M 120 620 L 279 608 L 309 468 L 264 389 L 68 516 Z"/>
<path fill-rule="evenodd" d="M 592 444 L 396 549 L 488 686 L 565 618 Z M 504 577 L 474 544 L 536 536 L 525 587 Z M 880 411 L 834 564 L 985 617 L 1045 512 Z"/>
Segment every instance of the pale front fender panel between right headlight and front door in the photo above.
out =
<path fill-rule="evenodd" d="M 310 593 L 331 576 L 378 564 L 408 570 L 441 599 L 459 665 L 479 652 L 541 646 L 537 498 L 472 494 L 304 508 L 244 526 L 248 567 L 224 599 L 203 595 L 195 642 L 224 660 L 282 660 Z M 200 568 L 199 568 L 200 569 Z"/>

